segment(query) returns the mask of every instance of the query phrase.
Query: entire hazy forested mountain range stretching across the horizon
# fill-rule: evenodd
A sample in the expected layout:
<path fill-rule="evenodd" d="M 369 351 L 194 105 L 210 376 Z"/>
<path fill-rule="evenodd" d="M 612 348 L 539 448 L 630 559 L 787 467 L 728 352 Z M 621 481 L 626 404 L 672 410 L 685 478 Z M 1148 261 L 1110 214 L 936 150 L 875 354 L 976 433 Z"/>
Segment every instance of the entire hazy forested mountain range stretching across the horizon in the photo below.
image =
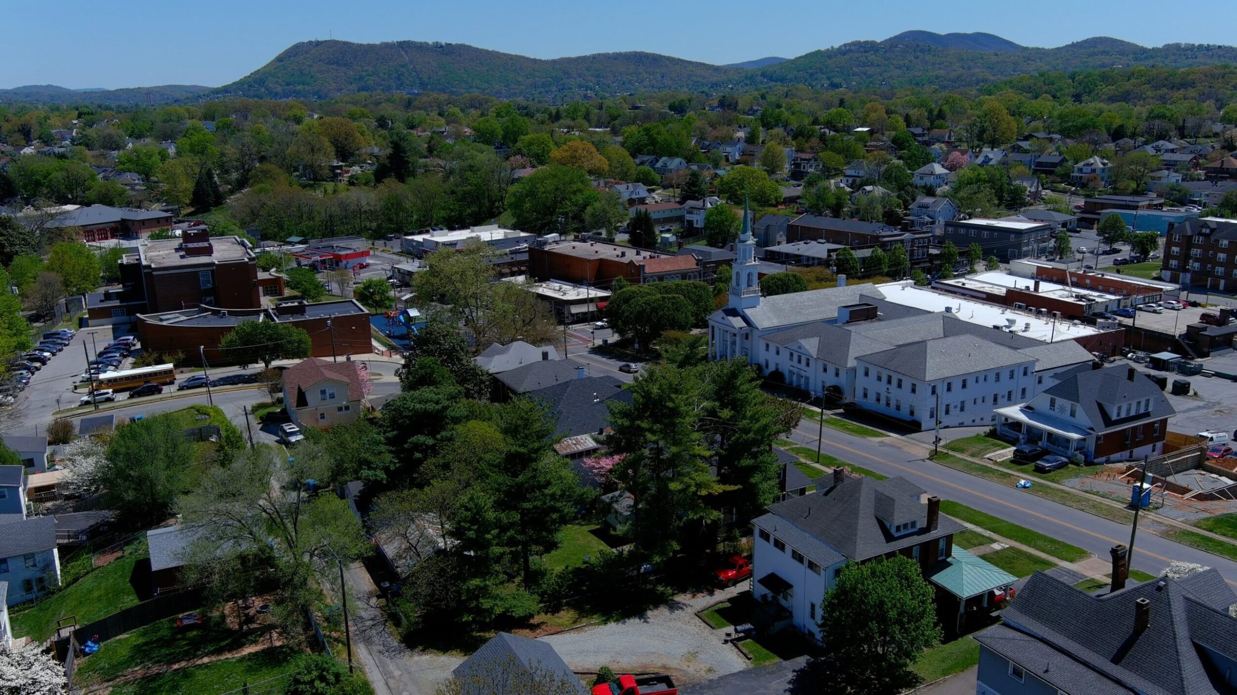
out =
<path fill-rule="evenodd" d="M 84 92 L 54 85 L 0 90 L 0 101 L 141 104 L 194 98 L 329 99 L 357 92 L 487 94 L 568 101 L 642 92 L 722 92 L 772 84 L 821 89 L 980 87 L 1019 74 L 1154 66 L 1237 64 L 1237 47 L 1169 43 L 1147 48 L 1094 37 L 1056 48 L 1019 46 L 992 33 L 905 31 L 797 58 L 714 66 L 647 52 L 529 58 L 465 43 L 304 41 L 219 88 L 163 85 Z"/>

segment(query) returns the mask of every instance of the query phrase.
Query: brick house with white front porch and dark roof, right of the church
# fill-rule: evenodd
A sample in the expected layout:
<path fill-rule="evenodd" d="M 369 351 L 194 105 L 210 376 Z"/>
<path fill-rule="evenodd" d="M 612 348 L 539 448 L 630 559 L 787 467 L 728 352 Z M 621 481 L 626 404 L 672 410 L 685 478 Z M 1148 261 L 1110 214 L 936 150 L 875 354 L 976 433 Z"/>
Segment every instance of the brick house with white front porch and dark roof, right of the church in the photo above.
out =
<path fill-rule="evenodd" d="M 1079 367 L 1038 396 L 997 408 L 997 432 L 1095 463 L 1163 453 L 1176 411 L 1132 366 Z"/>

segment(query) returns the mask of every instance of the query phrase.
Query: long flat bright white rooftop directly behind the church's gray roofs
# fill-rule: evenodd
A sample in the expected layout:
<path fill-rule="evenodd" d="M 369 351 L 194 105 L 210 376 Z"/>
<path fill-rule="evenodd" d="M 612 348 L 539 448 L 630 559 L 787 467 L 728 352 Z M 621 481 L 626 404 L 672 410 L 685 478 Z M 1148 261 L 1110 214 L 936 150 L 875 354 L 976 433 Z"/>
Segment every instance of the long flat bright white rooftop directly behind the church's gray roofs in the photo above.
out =
<path fill-rule="evenodd" d="M 992 328 L 995 325 L 1011 325 L 1018 335 L 1024 335 L 1044 343 L 1059 343 L 1072 340 L 1086 335 L 1105 333 L 1094 325 L 1074 323 L 1070 319 L 1053 320 L 1050 317 L 1035 315 L 1030 312 L 999 307 L 997 304 L 985 304 L 972 299 L 964 299 L 956 294 L 945 294 L 917 287 L 914 281 L 888 282 L 878 284 L 877 288 L 884 293 L 886 302 L 902 304 L 903 307 L 915 307 L 927 312 L 952 313 L 959 319 Z M 1028 325 L 1029 324 L 1029 325 Z"/>

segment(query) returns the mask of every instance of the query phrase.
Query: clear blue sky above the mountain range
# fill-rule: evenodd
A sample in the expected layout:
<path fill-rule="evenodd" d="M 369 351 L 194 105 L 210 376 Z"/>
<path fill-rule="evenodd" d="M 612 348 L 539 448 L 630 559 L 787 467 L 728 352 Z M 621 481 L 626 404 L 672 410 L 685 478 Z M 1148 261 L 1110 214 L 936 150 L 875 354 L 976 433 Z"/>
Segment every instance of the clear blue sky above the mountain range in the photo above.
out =
<path fill-rule="evenodd" d="M 1149 0 L 66 0 L 42 15 L 56 26 L 6 32 L 0 88 L 215 87 L 298 41 L 329 37 L 448 41 L 537 58 L 652 51 L 710 63 L 793 58 L 912 28 L 986 31 L 1045 47 L 1090 36 L 1143 46 L 1237 42 L 1237 2 L 1186 6 L 1189 16 Z"/>

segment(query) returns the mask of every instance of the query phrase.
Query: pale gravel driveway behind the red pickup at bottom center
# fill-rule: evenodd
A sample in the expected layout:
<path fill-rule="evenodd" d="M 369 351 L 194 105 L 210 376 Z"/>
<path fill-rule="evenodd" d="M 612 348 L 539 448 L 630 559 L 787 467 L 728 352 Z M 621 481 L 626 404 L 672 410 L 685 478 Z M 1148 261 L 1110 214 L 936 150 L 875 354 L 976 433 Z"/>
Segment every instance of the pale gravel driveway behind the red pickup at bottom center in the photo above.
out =
<path fill-rule="evenodd" d="M 722 643 L 693 613 L 743 591 L 735 586 L 711 594 L 679 596 L 669 605 L 621 622 L 542 637 L 573 670 L 594 673 L 609 665 L 615 673 L 661 672 L 700 681 L 747 668 L 738 649 Z"/>

